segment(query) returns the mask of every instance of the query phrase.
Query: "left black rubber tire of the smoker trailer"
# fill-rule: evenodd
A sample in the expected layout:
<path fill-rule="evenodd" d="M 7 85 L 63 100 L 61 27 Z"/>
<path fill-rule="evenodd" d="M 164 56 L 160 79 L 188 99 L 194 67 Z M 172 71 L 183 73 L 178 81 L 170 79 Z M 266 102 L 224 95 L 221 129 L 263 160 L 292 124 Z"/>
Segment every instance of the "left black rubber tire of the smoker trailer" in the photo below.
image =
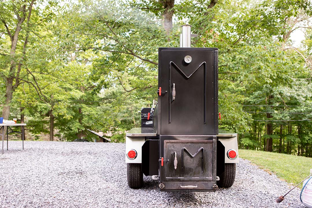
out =
<path fill-rule="evenodd" d="M 143 186 L 141 163 L 127 163 L 127 179 L 130 188 L 141 188 Z"/>

